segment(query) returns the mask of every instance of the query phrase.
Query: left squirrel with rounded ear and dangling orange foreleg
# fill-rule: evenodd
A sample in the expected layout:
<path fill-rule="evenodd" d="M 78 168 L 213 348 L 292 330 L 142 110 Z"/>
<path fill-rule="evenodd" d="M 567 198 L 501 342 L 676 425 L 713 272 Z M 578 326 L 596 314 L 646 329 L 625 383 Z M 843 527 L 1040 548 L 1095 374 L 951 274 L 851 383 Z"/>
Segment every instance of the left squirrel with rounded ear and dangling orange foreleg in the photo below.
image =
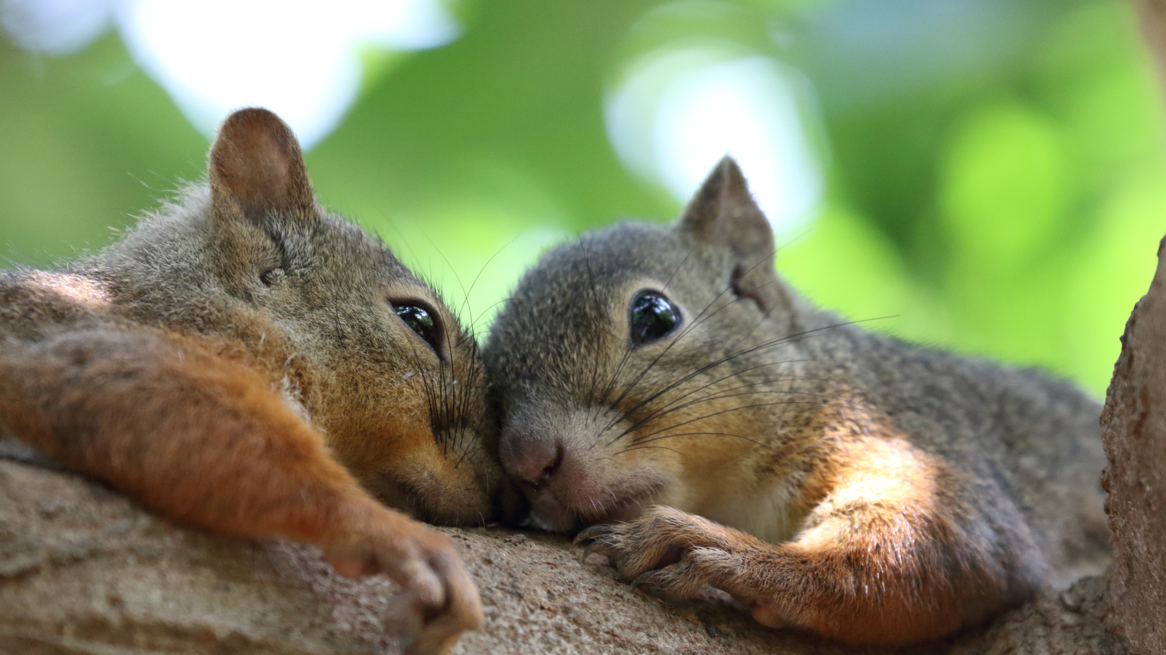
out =
<path fill-rule="evenodd" d="M 0 274 L 0 432 L 177 522 L 387 573 L 423 624 L 408 652 L 447 652 L 477 589 L 409 515 L 482 524 L 520 499 L 476 341 L 317 203 L 274 113 L 230 115 L 208 169 L 96 254 Z"/>

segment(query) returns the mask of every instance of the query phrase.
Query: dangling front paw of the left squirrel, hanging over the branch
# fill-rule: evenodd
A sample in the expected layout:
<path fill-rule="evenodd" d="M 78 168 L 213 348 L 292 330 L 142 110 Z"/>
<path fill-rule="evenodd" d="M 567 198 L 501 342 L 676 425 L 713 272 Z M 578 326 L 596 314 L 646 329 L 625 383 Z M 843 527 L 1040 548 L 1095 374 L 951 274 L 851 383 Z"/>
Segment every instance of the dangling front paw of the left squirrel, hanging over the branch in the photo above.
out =
<path fill-rule="evenodd" d="M 396 610 L 417 627 L 407 655 L 448 653 L 465 631 L 482 626 L 482 601 L 449 537 L 386 509 L 386 520 L 347 543 L 325 548 L 324 558 L 346 577 L 385 573 L 408 598 Z"/>

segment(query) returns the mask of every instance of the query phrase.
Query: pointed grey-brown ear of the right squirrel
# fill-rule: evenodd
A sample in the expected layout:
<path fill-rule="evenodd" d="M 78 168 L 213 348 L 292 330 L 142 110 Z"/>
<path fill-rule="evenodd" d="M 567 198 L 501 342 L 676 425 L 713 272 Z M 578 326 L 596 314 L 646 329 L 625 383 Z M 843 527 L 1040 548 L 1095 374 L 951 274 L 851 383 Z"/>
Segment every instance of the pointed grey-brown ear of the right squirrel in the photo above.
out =
<path fill-rule="evenodd" d="M 677 227 L 698 244 L 728 248 L 730 283 L 738 296 L 752 298 L 766 312 L 778 302 L 773 231 L 732 157 L 717 162 L 688 203 Z"/>

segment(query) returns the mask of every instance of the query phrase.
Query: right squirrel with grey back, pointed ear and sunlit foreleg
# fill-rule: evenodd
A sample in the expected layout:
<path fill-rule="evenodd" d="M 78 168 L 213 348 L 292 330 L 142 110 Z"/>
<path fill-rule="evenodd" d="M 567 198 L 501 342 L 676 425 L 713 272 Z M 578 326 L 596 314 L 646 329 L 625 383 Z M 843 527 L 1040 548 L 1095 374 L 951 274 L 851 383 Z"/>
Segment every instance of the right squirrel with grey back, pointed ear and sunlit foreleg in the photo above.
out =
<path fill-rule="evenodd" d="M 633 585 L 900 646 L 1109 557 L 1098 403 L 815 308 L 729 157 L 675 226 L 545 253 L 483 359 L 528 523 Z"/>

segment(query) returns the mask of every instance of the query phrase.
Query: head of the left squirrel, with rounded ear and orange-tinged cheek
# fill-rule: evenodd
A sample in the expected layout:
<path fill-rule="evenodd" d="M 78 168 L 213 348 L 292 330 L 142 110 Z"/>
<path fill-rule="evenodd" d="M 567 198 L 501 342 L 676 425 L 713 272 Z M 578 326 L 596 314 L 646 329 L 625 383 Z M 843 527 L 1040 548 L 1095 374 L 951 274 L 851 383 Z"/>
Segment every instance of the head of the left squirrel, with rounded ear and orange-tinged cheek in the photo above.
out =
<path fill-rule="evenodd" d="M 480 524 L 499 494 L 518 499 L 494 459 L 498 417 L 473 337 L 380 240 L 315 200 L 292 131 L 266 110 L 236 112 L 209 182 L 192 223 L 213 307 L 188 312 L 204 317 L 197 328 L 243 340 L 388 505 Z"/>

